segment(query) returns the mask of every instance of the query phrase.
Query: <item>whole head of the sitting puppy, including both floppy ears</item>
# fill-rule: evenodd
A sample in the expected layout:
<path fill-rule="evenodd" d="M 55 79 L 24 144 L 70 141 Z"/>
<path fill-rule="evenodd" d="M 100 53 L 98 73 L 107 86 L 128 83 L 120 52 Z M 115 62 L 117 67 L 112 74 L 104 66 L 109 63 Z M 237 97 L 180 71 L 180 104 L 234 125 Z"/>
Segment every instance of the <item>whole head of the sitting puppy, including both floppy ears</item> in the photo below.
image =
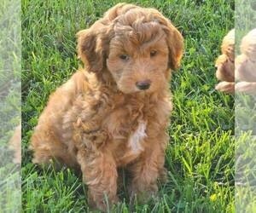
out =
<path fill-rule="evenodd" d="M 166 86 L 179 66 L 183 37 L 160 12 L 118 4 L 78 33 L 79 57 L 90 72 L 110 72 L 125 94 Z"/>

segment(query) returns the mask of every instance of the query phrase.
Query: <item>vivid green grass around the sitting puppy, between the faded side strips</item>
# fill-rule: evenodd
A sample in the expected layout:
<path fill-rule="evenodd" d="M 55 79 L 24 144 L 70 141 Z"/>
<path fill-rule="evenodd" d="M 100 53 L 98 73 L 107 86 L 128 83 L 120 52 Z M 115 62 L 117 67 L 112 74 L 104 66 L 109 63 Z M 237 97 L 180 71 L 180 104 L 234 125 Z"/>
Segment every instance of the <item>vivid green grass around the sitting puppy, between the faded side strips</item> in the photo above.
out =
<path fill-rule="evenodd" d="M 128 2 L 128 1 L 127 1 Z M 132 2 L 132 1 L 129 1 Z M 173 73 L 174 111 L 166 150 L 170 181 L 160 199 L 136 212 L 234 212 L 234 97 L 214 90 L 214 61 L 234 27 L 232 0 L 133 1 L 154 7 L 183 33 L 182 67 Z M 32 164 L 27 145 L 49 94 L 76 71 L 75 33 L 118 1 L 22 1 L 22 204 L 24 212 L 86 212 L 81 176 Z M 129 212 L 125 193 L 113 212 Z"/>

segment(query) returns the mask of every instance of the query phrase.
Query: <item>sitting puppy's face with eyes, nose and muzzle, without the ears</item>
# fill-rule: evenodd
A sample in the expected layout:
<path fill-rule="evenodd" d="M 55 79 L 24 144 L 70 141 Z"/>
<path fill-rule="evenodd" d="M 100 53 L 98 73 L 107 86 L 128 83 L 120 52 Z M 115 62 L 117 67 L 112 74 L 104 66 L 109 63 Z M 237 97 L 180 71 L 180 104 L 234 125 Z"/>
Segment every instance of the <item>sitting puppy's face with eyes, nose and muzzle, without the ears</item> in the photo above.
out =
<path fill-rule="evenodd" d="M 160 89 L 168 78 L 165 32 L 158 23 L 139 25 L 140 32 L 132 26 L 115 26 L 109 46 L 108 70 L 124 93 Z"/>

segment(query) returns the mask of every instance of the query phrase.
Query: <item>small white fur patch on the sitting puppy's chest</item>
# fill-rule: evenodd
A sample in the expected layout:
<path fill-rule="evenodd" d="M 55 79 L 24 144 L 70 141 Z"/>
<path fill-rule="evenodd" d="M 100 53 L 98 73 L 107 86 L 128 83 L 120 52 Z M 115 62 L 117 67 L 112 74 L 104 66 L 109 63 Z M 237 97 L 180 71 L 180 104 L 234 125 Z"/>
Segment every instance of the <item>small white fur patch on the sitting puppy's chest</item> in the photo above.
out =
<path fill-rule="evenodd" d="M 138 153 L 139 151 L 143 150 L 142 147 L 142 141 L 143 138 L 147 136 L 146 134 L 146 127 L 147 124 L 145 122 L 140 122 L 137 130 L 135 130 L 129 137 L 129 147 L 131 147 L 131 150 L 133 153 Z"/>

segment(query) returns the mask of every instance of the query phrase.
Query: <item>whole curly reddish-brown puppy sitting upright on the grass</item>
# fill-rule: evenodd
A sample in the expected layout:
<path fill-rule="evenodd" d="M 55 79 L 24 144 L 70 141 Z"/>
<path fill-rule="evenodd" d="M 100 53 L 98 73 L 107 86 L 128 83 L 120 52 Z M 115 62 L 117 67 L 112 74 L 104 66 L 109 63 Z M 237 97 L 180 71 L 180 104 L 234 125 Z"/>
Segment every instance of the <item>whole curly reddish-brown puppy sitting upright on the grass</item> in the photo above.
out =
<path fill-rule="evenodd" d="M 125 3 L 77 36 L 84 68 L 50 95 L 32 135 L 33 163 L 79 167 L 100 210 L 106 197 L 118 202 L 120 167 L 131 174 L 130 193 L 148 199 L 164 170 L 183 37 L 156 9 Z"/>

